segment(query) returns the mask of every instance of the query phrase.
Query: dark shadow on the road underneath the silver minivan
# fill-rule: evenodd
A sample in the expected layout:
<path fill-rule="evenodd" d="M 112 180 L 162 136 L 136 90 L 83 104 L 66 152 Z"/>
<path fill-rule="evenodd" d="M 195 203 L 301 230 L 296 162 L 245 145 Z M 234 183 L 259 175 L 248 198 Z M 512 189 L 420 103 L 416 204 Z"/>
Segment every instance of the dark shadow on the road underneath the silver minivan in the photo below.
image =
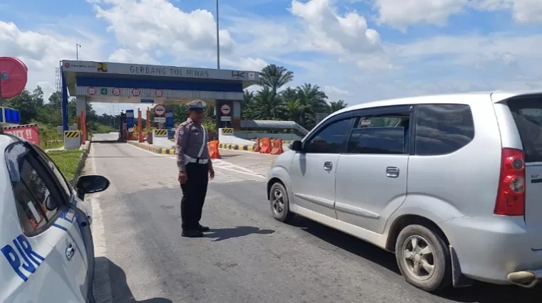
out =
<path fill-rule="evenodd" d="M 358 255 L 365 260 L 374 262 L 376 265 L 382 266 L 390 272 L 394 272 L 396 275 L 401 275 L 401 272 L 399 272 L 399 268 L 397 267 L 395 255 L 392 253 L 377 248 L 363 240 L 354 238 L 351 235 L 347 235 L 346 233 L 342 233 L 300 216 L 295 216 L 290 222 L 290 225 L 300 228 L 331 245 L 337 246 L 337 248 L 341 248 L 342 250 Z M 534 289 L 523 289 L 516 286 L 491 285 L 488 283 L 476 282 L 471 287 L 451 288 L 435 295 L 444 299 L 464 303 L 539 303 L 542 302 L 542 285 Z"/>

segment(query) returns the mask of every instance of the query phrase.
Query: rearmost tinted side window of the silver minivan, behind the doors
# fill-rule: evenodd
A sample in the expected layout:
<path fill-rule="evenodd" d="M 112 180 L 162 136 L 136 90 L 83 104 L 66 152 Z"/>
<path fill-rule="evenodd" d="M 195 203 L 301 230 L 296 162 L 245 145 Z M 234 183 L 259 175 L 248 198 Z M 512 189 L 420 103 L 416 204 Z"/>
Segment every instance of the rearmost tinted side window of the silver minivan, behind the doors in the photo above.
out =
<path fill-rule="evenodd" d="M 471 107 L 460 104 L 418 105 L 415 150 L 417 155 L 450 154 L 474 139 Z"/>

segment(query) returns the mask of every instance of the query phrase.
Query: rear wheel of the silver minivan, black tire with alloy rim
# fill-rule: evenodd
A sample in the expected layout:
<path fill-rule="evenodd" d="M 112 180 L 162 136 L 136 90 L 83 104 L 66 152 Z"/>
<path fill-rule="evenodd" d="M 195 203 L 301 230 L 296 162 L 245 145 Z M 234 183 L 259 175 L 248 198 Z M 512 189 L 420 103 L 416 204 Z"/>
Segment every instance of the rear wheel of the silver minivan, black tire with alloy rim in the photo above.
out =
<path fill-rule="evenodd" d="M 416 239 L 414 243 L 417 248 L 414 254 L 409 254 L 406 250 L 412 251 L 413 239 Z M 420 250 L 426 250 L 426 254 L 420 254 Z M 408 225 L 403 228 L 395 243 L 395 257 L 404 279 L 411 285 L 426 292 L 438 292 L 451 286 L 450 251 L 441 236 L 433 230 L 422 225 Z M 406 260 L 407 258 L 409 260 Z M 417 262 L 418 267 L 421 267 L 424 261 L 433 265 L 434 269 L 432 273 L 423 269 L 422 271 L 428 275 L 416 277 L 414 264 Z"/>

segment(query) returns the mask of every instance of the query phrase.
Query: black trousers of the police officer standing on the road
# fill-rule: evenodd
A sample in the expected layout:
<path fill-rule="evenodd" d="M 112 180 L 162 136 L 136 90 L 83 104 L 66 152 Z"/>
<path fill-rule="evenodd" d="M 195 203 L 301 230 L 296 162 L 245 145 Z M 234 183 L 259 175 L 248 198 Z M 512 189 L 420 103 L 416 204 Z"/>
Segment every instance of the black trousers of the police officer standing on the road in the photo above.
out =
<path fill-rule="evenodd" d="M 188 163 L 185 165 L 188 180 L 180 184 L 183 190 L 183 198 L 180 200 L 180 218 L 183 220 L 183 230 L 195 230 L 201 220 L 201 212 L 207 186 L 209 184 L 208 164 Z"/>

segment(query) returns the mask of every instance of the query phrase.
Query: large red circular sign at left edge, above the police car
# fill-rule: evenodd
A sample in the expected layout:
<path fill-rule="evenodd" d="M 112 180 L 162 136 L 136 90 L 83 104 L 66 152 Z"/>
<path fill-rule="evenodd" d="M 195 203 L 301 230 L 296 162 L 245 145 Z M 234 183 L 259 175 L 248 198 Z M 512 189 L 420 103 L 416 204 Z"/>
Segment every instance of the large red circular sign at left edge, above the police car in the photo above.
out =
<path fill-rule="evenodd" d="M 3 98 L 19 95 L 28 81 L 29 68 L 14 57 L 0 57 L 0 81 Z"/>

